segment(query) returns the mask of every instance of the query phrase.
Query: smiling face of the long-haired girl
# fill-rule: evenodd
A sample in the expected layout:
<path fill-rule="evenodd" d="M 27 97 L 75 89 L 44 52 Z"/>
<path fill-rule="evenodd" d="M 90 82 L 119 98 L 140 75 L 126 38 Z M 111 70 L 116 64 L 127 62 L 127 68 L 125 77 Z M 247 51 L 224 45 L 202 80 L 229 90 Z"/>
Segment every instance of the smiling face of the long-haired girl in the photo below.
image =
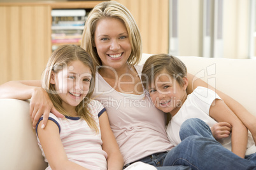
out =
<path fill-rule="evenodd" d="M 51 84 L 62 100 L 62 107 L 71 112 L 85 98 L 90 88 L 92 72 L 81 61 L 75 60 L 57 73 L 52 73 Z"/>

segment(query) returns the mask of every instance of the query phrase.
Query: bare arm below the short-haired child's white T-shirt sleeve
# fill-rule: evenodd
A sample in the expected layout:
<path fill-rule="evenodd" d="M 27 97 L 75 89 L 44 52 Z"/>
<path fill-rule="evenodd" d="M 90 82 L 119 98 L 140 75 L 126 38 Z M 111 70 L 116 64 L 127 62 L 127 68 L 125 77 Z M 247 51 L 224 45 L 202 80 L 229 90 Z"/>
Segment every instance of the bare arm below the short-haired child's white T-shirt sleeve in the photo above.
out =
<path fill-rule="evenodd" d="M 210 107 L 209 115 L 217 122 L 228 122 L 232 126 L 232 152 L 245 158 L 248 141 L 248 130 L 240 119 L 227 107 L 223 100 L 215 100 Z"/>

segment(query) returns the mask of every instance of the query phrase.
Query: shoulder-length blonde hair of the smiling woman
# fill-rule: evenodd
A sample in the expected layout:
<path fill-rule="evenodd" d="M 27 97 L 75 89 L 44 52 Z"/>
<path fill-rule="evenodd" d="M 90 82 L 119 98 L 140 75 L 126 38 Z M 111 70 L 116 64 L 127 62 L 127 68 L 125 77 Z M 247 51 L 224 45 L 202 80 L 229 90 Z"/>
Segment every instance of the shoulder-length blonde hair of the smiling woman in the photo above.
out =
<path fill-rule="evenodd" d="M 125 6 L 115 1 L 106 1 L 97 4 L 94 9 L 90 11 L 85 22 L 81 47 L 84 48 L 92 58 L 94 58 L 97 66 L 102 65 L 95 47 L 94 33 L 97 22 L 105 18 L 117 18 L 124 23 L 132 46 L 132 52 L 127 62 L 131 65 L 137 64 L 139 60 L 141 60 L 142 55 L 141 35 L 139 33 L 138 26 L 136 25 L 130 11 L 127 10 Z"/>

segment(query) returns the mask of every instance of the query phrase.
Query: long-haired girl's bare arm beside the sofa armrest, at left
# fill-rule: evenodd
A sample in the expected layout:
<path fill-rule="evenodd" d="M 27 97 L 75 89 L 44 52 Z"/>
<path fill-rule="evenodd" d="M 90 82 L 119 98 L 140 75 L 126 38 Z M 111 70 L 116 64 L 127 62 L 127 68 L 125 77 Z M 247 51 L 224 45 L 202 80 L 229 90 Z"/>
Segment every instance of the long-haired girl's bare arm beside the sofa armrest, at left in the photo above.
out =
<path fill-rule="evenodd" d="M 42 121 L 39 122 L 41 126 Z M 45 157 L 52 169 L 60 170 L 85 170 L 85 167 L 79 166 L 68 160 L 62 142 L 60 140 L 59 128 L 53 121 L 48 121 L 45 129 L 38 128 L 38 138 L 45 152 Z"/>

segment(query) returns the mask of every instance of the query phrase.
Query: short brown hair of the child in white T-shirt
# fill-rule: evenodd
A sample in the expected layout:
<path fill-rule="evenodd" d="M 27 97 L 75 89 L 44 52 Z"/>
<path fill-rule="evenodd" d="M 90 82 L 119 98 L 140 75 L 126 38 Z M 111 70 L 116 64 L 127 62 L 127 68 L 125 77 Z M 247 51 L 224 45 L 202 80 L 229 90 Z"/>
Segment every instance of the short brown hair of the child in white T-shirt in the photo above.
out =
<path fill-rule="evenodd" d="M 184 86 L 183 77 L 187 77 L 187 67 L 176 56 L 167 54 L 152 55 L 146 60 L 141 72 L 143 87 L 148 90 L 149 85 L 155 82 L 155 75 L 165 72 L 175 79 L 180 86 Z"/>

